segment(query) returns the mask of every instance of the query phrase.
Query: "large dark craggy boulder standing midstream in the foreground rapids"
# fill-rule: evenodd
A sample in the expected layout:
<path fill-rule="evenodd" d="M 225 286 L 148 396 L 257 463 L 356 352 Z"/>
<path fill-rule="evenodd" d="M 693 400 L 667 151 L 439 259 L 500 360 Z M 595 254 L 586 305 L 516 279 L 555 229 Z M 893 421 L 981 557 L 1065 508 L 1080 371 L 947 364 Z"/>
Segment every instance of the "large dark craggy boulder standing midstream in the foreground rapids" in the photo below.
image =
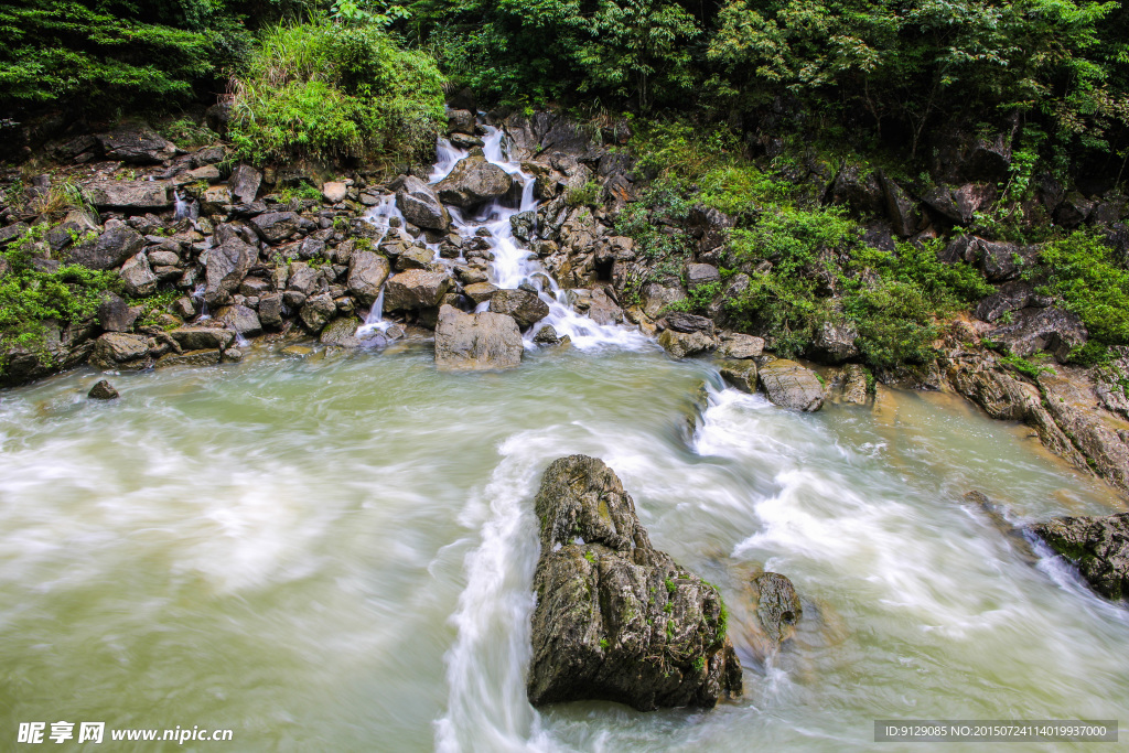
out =
<path fill-rule="evenodd" d="M 651 546 L 610 467 L 584 455 L 554 461 L 534 506 L 541 559 L 526 684 L 534 706 L 711 708 L 741 692 L 720 594 Z"/>

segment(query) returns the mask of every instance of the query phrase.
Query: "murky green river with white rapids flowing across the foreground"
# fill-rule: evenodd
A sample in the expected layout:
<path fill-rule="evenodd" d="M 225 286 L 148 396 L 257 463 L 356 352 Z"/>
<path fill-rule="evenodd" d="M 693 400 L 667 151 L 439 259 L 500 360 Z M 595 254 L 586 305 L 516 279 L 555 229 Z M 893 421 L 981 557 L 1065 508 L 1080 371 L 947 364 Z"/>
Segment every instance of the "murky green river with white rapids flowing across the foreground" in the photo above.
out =
<path fill-rule="evenodd" d="M 881 718 L 1121 718 L 1127 734 L 1126 611 L 963 494 L 1016 520 L 1117 502 L 962 402 L 800 414 L 657 349 L 467 375 L 426 347 L 259 345 L 115 377 L 111 403 L 82 396 L 96 378 L 0 397 L 5 736 L 102 720 L 234 730 L 183 748 L 200 751 L 619 752 L 900 750 L 874 744 Z M 532 498 L 571 453 L 604 458 L 655 545 L 718 585 L 744 698 L 528 706 Z M 750 618 L 761 568 L 804 599 L 777 654 Z"/>

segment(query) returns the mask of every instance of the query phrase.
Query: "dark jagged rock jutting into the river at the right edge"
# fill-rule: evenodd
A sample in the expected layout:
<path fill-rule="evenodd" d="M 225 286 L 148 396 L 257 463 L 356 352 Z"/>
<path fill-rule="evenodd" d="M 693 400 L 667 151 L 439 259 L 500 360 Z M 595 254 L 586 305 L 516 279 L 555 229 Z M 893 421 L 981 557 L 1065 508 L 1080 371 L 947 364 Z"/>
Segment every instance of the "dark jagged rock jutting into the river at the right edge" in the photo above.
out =
<path fill-rule="evenodd" d="M 1077 567 L 1095 592 L 1129 598 L 1129 513 L 1054 518 L 1031 532 Z"/>

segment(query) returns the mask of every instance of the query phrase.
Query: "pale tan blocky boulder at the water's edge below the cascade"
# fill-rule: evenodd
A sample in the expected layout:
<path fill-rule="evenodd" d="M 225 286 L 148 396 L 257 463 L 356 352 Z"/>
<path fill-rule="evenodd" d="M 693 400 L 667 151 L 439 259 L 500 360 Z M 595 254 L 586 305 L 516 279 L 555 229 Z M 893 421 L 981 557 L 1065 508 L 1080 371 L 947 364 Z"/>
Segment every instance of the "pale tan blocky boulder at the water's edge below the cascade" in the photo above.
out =
<path fill-rule="evenodd" d="M 454 306 L 439 309 L 435 362 L 441 371 L 510 368 L 522 362 L 523 350 L 522 332 L 511 316 L 464 314 Z"/>

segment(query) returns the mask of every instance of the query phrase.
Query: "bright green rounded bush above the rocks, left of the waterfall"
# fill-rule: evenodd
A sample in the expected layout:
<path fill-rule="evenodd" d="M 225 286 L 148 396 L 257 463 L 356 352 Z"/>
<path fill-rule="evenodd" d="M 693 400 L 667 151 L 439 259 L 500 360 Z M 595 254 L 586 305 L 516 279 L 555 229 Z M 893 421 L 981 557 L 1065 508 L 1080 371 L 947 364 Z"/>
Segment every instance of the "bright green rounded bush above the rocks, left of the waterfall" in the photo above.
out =
<path fill-rule="evenodd" d="M 375 26 L 278 26 L 234 89 L 231 141 L 255 163 L 410 157 L 444 122 L 435 62 Z"/>

